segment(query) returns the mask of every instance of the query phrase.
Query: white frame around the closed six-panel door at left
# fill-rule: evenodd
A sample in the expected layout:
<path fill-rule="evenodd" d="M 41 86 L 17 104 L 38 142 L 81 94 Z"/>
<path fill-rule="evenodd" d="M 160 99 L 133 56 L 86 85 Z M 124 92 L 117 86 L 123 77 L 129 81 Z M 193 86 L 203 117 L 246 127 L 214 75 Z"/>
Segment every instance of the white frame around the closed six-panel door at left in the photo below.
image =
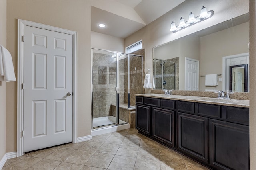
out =
<path fill-rule="evenodd" d="M 75 31 L 52 27 L 40 23 L 18 19 L 18 78 L 17 78 L 17 156 L 23 155 L 23 90 L 24 82 L 24 25 L 56 31 L 73 36 L 73 143 L 76 143 L 76 35 Z"/>

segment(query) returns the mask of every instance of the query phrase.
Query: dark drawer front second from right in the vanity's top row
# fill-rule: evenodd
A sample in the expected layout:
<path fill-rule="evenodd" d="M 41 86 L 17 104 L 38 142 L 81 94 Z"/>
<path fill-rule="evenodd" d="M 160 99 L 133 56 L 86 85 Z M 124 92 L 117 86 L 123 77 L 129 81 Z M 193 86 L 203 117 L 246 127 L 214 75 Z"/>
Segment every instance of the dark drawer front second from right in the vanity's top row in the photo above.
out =
<path fill-rule="evenodd" d="M 198 103 L 198 115 L 220 118 L 221 106 Z"/>

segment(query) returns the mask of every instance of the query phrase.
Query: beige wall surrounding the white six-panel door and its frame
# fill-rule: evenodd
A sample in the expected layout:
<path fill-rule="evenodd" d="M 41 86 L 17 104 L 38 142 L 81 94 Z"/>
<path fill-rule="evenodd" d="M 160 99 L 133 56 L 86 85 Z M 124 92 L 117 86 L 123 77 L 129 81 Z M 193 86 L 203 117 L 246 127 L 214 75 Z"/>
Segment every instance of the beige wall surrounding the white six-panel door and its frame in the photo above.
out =
<path fill-rule="evenodd" d="M 77 31 L 77 137 L 91 133 L 91 6 L 90 1 L 9 0 L 7 1 L 7 48 L 17 75 L 17 19 L 34 21 Z M 16 151 L 17 83 L 7 86 L 6 152 Z M 1 133 L 2 136 L 2 133 Z"/>

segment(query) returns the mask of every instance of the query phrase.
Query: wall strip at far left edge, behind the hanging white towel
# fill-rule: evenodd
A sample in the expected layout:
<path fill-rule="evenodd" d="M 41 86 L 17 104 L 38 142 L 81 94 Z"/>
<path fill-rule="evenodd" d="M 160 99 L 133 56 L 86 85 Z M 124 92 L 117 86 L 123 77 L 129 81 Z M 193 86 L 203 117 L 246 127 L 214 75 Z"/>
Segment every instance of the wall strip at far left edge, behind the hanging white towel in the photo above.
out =
<path fill-rule="evenodd" d="M 6 0 L 0 1 L 0 44 L 6 47 Z M 0 160 L 6 154 L 6 82 L 0 82 Z"/>

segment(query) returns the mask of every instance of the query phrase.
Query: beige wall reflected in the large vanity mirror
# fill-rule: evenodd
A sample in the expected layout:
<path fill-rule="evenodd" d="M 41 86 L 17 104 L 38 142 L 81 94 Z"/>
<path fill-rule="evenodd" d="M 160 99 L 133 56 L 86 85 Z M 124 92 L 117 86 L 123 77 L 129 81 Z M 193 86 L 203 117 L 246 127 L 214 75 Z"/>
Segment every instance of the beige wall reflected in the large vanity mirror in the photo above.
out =
<path fill-rule="evenodd" d="M 193 26 L 188 29 L 192 28 Z M 228 88 L 223 87 L 229 86 L 229 82 L 222 81 L 222 58 L 248 53 L 248 42 L 249 14 L 247 13 L 163 45 L 158 45 L 153 48 L 153 59 L 169 60 L 179 57 L 177 90 L 185 90 L 185 57 L 188 57 L 198 60 L 200 64 L 199 90 L 226 91 Z M 229 70 L 229 67 L 227 69 Z M 200 75 L 206 74 L 222 74 L 222 76 L 218 76 L 218 86 L 205 86 L 205 77 L 200 77 Z M 226 80 L 229 80 L 229 75 Z"/>

